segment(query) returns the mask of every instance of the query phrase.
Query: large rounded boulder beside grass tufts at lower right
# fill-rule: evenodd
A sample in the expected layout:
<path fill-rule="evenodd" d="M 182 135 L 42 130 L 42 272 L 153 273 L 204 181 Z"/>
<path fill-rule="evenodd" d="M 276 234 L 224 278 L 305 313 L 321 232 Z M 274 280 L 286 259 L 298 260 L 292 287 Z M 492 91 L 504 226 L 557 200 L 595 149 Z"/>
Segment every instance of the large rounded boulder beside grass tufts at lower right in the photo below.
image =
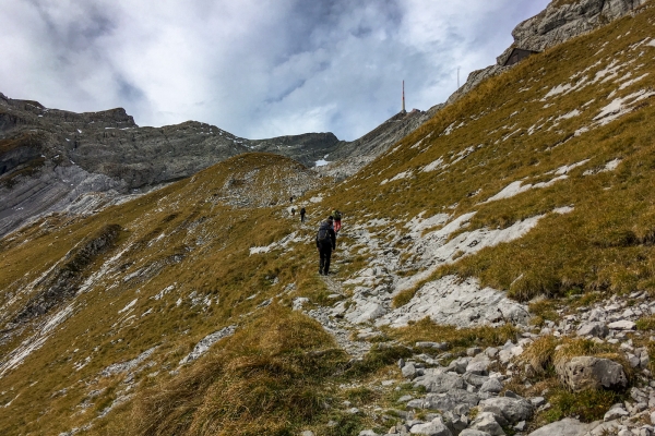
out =
<path fill-rule="evenodd" d="M 561 382 L 574 391 L 628 386 L 623 367 L 609 359 L 576 356 L 563 365 L 557 365 L 556 371 Z"/>

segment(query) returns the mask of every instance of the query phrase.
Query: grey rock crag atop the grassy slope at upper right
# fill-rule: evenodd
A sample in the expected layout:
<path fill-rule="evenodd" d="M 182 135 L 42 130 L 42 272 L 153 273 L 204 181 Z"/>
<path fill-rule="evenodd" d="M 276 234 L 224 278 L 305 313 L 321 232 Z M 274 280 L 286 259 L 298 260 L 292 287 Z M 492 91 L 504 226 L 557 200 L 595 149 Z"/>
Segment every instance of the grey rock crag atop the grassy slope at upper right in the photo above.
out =
<path fill-rule="evenodd" d="M 544 11 L 519 24 L 512 32 L 514 44 L 497 58 L 497 63 L 472 72 L 466 83 L 449 97 L 446 104 L 456 101 L 486 78 L 511 68 L 503 65 L 513 48 L 543 51 L 626 16 L 646 1 L 580 0 L 564 4 L 561 4 L 561 1 L 551 1 Z"/>

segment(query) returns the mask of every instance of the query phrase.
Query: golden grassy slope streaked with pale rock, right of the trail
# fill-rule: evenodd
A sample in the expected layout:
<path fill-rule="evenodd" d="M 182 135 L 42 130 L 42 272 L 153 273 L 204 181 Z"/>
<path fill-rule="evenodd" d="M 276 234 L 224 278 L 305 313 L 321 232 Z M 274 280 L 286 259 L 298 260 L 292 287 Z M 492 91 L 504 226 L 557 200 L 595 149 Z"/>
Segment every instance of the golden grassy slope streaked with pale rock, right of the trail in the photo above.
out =
<path fill-rule="evenodd" d="M 388 153 L 354 180 L 344 182 L 357 214 L 406 218 L 427 210 L 460 216 L 477 211 L 466 230 L 504 228 L 553 208 L 573 206 L 570 214 L 549 214 L 525 238 L 486 249 L 440 274 L 477 276 L 484 284 L 509 289 L 520 300 L 561 294 L 572 288 L 629 292 L 653 289 L 655 182 L 653 168 L 653 97 L 607 125 L 594 118 L 618 97 L 653 92 L 655 35 L 653 9 L 626 17 L 535 56 L 510 72 L 484 83 L 475 93 L 439 112 L 404 146 Z M 641 46 L 634 47 L 639 43 Z M 545 96 L 556 86 L 587 80 L 612 62 L 624 65 L 615 77 L 580 90 Z M 581 72 L 584 73 L 581 74 Z M 627 77 L 627 80 L 619 81 Z M 647 74 L 636 83 L 629 81 Z M 628 84 L 620 88 L 622 84 Z M 558 117 L 581 113 L 556 122 Z M 460 125 L 450 135 L 450 125 Z M 528 134 L 531 126 L 538 126 Z M 588 132 L 574 136 L 583 126 Z M 508 134 L 514 133 L 510 137 Z M 421 141 L 418 147 L 413 145 Z M 474 146 L 458 162 L 432 172 L 421 168 L 442 158 L 450 162 Z M 586 164 L 567 180 L 533 189 L 508 199 L 481 204 L 510 183 L 546 182 L 562 166 Z M 621 159 L 615 171 L 583 175 Z M 412 171 L 412 177 L 380 183 Z M 377 192 L 374 201 L 366 193 Z M 336 201 L 326 198 L 329 202 Z"/>

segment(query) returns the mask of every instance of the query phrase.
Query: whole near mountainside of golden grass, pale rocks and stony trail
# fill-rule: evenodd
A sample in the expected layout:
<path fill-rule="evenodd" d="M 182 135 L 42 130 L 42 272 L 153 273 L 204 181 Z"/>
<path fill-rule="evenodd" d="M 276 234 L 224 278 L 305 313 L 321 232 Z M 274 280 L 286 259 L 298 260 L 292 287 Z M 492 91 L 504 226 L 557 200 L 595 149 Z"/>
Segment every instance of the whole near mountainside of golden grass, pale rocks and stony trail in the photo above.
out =
<path fill-rule="evenodd" d="M 654 23 L 531 56 L 343 180 L 247 153 L 5 235 L 0 433 L 652 433 Z"/>

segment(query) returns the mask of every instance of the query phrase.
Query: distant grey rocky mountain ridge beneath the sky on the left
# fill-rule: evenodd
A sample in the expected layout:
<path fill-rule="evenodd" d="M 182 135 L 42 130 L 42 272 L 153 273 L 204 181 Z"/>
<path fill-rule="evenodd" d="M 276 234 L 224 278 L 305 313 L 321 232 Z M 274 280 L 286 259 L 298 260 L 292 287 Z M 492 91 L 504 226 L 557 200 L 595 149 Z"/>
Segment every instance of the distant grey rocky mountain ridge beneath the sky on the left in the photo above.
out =
<path fill-rule="evenodd" d="M 396 120 L 394 132 L 416 129 L 414 119 Z M 372 143 L 400 137 L 379 132 Z M 0 235 L 48 213 L 93 214 L 242 153 L 313 167 L 336 149 L 344 159 L 361 154 L 360 142 L 332 133 L 251 141 L 195 121 L 140 128 L 122 108 L 74 113 L 0 94 Z"/>

